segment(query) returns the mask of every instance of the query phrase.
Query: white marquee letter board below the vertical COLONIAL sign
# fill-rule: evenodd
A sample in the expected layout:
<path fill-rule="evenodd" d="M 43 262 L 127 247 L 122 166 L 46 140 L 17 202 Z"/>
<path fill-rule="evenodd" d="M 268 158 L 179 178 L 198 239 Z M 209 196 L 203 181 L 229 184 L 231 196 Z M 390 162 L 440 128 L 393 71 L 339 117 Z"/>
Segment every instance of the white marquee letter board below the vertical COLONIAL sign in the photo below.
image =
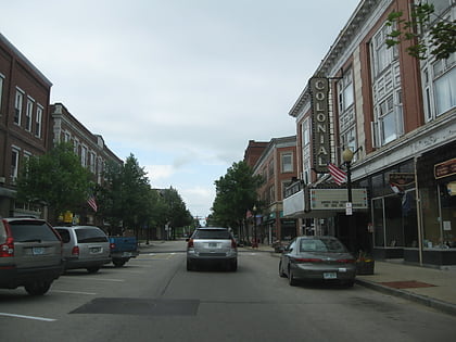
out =
<path fill-rule="evenodd" d="M 312 211 L 346 211 L 349 193 L 346 189 L 311 189 Z M 366 189 L 352 189 L 351 210 L 367 208 Z"/>

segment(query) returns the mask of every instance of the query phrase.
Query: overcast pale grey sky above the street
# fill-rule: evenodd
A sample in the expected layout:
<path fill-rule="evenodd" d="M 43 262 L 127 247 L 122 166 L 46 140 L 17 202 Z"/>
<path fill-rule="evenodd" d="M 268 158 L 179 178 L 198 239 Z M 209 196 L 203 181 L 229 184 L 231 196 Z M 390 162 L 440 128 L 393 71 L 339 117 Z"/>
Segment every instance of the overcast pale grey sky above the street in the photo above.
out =
<path fill-rule="evenodd" d="M 206 216 L 249 140 L 288 115 L 359 0 L 0 0 L 0 31 L 153 188 Z"/>

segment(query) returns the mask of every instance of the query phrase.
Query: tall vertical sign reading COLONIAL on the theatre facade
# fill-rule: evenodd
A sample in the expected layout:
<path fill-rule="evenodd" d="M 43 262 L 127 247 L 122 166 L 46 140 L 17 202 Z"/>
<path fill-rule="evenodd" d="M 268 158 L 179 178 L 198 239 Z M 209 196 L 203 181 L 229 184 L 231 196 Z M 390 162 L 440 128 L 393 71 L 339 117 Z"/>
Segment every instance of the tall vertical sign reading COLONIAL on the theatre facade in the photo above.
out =
<path fill-rule="evenodd" d="M 312 77 L 309 80 L 312 97 L 312 144 L 313 168 L 317 174 L 328 173 L 330 156 L 329 127 L 329 79 Z"/>

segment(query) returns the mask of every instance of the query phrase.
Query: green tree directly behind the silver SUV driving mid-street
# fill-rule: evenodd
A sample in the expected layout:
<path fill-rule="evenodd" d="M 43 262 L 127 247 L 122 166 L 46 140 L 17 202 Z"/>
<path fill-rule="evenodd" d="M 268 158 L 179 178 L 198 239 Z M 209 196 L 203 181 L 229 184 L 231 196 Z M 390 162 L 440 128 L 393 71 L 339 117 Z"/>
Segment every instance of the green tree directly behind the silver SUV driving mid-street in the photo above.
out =
<path fill-rule="evenodd" d="M 257 190 L 262 183 L 263 177 L 254 175 L 245 162 L 233 163 L 226 175 L 215 181 L 211 224 L 241 227 L 246 211 L 259 205 Z"/>

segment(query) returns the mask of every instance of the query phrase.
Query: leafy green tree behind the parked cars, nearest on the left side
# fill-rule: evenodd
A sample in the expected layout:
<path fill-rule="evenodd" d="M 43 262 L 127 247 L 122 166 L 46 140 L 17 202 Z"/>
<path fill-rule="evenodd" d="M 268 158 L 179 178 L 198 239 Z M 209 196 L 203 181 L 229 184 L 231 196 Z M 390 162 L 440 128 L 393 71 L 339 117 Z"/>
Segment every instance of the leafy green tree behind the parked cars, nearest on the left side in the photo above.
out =
<path fill-rule="evenodd" d="M 87 205 L 92 189 L 90 172 L 81 166 L 73 145 L 64 142 L 25 163 L 17 179 L 17 201 L 45 203 L 50 221 L 56 223 L 63 212 Z"/>

